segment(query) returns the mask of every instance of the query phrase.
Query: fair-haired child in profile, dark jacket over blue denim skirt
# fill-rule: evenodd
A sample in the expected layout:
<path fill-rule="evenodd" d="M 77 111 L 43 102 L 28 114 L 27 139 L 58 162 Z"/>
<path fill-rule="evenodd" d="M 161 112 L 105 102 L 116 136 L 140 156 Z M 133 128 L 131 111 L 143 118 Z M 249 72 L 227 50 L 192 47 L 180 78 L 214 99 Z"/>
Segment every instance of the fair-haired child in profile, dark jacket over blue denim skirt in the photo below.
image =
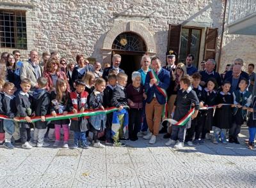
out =
<path fill-rule="evenodd" d="M 98 78 L 95 82 L 95 89 L 90 95 L 90 108 L 102 109 L 103 107 L 103 90 L 106 82 L 103 78 Z M 90 131 L 93 133 L 93 147 L 104 148 L 105 146 L 98 140 L 98 133 L 106 127 L 106 114 L 93 115 L 90 117 Z"/>

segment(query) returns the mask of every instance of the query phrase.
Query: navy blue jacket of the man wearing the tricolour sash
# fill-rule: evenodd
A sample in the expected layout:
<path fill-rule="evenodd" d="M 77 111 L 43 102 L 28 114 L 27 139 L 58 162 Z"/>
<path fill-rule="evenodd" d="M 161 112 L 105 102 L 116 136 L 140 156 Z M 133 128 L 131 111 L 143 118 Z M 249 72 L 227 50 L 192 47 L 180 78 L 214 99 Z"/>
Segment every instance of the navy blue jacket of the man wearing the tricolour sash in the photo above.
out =
<path fill-rule="evenodd" d="M 160 72 L 158 73 L 158 78 L 160 82 L 158 83 L 158 87 L 163 88 L 164 90 L 167 90 L 170 85 L 170 72 L 166 71 L 166 69 L 161 68 Z M 159 92 L 156 85 L 150 86 L 150 71 L 148 71 L 146 75 L 145 80 L 145 91 L 147 93 L 147 99 L 146 102 L 150 103 L 154 96 L 156 96 L 156 99 L 160 105 L 164 105 L 166 103 L 166 98 Z"/>

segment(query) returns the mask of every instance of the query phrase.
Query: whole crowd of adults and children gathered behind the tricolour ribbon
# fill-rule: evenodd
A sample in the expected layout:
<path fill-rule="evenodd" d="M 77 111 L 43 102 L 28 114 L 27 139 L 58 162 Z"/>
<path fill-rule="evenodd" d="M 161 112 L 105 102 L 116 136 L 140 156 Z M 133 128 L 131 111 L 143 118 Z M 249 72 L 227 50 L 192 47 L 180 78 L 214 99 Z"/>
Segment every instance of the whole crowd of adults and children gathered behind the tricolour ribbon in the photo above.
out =
<path fill-rule="evenodd" d="M 238 134 L 246 122 L 248 148 L 252 149 L 255 65 L 249 64 L 246 73 L 243 60 L 236 59 L 219 74 L 214 59 L 202 61 L 198 71 L 192 54 L 186 63 L 178 64 L 176 55 L 173 50 L 166 52 L 163 67 L 159 57 L 143 55 L 141 69 L 126 75 L 118 54 L 113 55 L 112 65 L 102 68 L 100 62 L 92 65 L 81 54 L 76 63 L 67 63 L 58 52 L 44 52 L 39 61 L 38 52 L 32 50 L 28 61 L 22 62 L 19 50 L 3 52 L 1 145 L 12 149 L 13 143 L 21 143 L 22 148 L 31 149 L 49 147 L 49 141 L 54 141 L 53 147 L 64 148 L 124 147 L 122 140 L 136 141 L 138 137 L 154 144 L 159 133 L 169 139 L 166 146 L 175 148 L 183 148 L 184 143 L 202 145 L 208 138 L 215 144 L 239 144 Z M 127 84 L 128 76 L 132 83 Z M 93 111 L 97 113 L 76 116 Z M 51 121 L 45 119 L 47 115 Z M 34 122 L 35 117 L 39 119 Z M 68 143 L 70 131 L 74 133 L 72 145 Z"/>

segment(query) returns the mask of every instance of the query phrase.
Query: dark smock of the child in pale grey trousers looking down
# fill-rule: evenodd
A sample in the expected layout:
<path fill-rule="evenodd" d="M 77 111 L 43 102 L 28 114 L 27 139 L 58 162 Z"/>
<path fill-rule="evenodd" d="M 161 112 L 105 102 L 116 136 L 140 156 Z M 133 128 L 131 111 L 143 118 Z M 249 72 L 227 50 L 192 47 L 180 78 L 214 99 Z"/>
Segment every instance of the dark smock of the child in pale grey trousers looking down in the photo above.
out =
<path fill-rule="evenodd" d="M 46 89 L 35 89 L 33 92 L 32 111 L 36 116 L 45 116 L 49 114 L 51 105 L 50 94 Z M 37 121 L 35 127 L 37 129 L 46 129 L 47 122 Z"/>

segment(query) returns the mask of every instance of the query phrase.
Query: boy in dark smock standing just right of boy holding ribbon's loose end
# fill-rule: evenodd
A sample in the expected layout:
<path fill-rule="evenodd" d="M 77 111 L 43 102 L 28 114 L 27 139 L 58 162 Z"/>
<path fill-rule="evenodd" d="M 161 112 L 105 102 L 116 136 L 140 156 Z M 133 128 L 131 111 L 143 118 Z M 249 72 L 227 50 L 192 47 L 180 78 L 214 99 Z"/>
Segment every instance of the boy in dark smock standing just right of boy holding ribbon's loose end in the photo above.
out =
<path fill-rule="evenodd" d="M 204 100 L 205 100 L 204 90 L 199 85 L 201 82 L 202 76 L 200 75 L 200 73 L 194 73 L 192 75 L 192 78 L 193 78 L 192 89 L 195 90 L 196 96 L 200 101 L 199 106 L 200 108 L 202 108 L 204 106 Z M 201 120 L 202 120 L 202 110 L 199 110 L 197 117 L 191 121 L 191 127 L 187 130 L 185 141 L 188 143 L 189 146 L 193 146 L 192 139 L 195 133 L 195 129 L 198 129 L 198 127 L 201 125 Z M 204 143 L 204 140 L 200 140 L 200 141 Z"/>

